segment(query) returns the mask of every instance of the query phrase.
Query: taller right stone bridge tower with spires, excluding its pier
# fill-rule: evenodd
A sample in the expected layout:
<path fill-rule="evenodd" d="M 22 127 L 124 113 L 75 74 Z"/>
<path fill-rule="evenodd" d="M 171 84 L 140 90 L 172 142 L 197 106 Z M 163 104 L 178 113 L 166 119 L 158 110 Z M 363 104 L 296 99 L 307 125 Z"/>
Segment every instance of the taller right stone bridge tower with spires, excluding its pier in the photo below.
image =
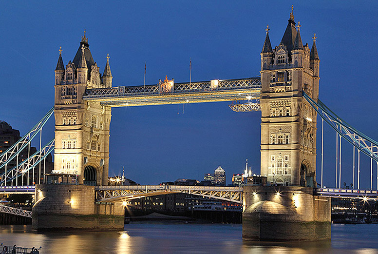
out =
<path fill-rule="evenodd" d="M 315 187 L 317 113 L 302 97 L 319 96 L 315 44 L 302 44 L 300 22 L 291 12 L 281 43 L 274 49 L 269 29 L 261 52 L 261 175 L 268 184 Z"/>

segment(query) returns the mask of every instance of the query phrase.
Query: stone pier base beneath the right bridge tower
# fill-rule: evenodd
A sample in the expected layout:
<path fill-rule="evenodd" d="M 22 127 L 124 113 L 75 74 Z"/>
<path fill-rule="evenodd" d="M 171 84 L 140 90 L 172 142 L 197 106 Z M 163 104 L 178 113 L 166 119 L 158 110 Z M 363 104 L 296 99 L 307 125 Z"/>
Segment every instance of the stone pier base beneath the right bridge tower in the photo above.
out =
<path fill-rule="evenodd" d="M 316 241 L 331 238 L 331 198 L 313 188 L 244 187 L 243 239 Z"/>

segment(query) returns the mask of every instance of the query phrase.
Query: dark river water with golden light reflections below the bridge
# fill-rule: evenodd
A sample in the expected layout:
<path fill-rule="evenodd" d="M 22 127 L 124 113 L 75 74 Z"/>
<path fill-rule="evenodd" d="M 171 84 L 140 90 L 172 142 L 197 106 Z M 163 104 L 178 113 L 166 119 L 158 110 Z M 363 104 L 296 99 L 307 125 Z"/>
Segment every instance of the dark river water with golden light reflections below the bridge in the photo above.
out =
<path fill-rule="evenodd" d="M 241 224 L 132 222 L 123 232 L 36 234 L 31 226 L 0 226 L 4 245 L 42 246 L 41 254 L 378 254 L 378 224 L 332 225 L 330 241 L 256 243 L 242 240 Z"/>

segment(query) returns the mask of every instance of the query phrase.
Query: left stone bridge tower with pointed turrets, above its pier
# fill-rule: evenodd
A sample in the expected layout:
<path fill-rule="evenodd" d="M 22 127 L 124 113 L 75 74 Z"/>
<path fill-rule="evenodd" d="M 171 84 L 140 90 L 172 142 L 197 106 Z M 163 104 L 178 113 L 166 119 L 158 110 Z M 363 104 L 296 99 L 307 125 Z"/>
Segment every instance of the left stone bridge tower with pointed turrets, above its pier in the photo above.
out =
<path fill-rule="evenodd" d="M 55 70 L 54 173 L 77 174 L 80 184 L 108 185 L 112 111 L 82 96 L 87 88 L 112 86 L 109 55 L 101 75 L 85 31 L 73 61 L 66 66 L 61 52 Z"/>

